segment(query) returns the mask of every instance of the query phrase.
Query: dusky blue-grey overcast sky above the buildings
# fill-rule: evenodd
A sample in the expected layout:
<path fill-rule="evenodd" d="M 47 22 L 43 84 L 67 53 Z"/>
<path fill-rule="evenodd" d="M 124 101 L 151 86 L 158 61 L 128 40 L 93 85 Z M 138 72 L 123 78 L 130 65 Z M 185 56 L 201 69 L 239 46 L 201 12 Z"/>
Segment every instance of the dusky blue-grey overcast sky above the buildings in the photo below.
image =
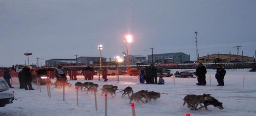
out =
<path fill-rule="evenodd" d="M 256 0 L 0 0 L 0 65 L 25 64 L 39 57 L 130 55 L 184 52 L 199 55 L 256 50 Z"/>

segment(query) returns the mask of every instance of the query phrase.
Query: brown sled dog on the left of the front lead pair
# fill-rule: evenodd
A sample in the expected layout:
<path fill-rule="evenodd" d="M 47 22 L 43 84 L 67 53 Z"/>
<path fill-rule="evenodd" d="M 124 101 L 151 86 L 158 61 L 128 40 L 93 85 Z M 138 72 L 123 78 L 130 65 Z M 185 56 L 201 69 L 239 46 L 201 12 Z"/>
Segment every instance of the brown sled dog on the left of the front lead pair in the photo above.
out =
<path fill-rule="evenodd" d="M 188 108 L 190 110 L 197 110 L 197 106 L 199 104 L 203 104 L 204 101 L 206 100 L 211 100 L 212 97 L 210 96 L 210 94 L 204 94 L 204 95 L 187 95 L 185 96 L 185 98 L 183 99 L 184 103 L 183 106 L 185 104 L 188 104 Z"/>

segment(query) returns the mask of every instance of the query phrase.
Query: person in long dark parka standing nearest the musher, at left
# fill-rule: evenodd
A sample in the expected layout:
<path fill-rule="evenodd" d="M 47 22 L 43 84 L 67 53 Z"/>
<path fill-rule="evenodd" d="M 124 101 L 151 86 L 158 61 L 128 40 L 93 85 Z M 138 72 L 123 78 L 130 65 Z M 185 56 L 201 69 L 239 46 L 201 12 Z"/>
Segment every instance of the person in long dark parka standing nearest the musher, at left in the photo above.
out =
<path fill-rule="evenodd" d="M 24 89 L 25 90 L 35 90 L 32 88 L 31 82 L 32 82 L 32 76 L 30 69 L 28 67 L 24 67 L 23 73 L 22 73 L 22 79 L 24 82 Z"/>

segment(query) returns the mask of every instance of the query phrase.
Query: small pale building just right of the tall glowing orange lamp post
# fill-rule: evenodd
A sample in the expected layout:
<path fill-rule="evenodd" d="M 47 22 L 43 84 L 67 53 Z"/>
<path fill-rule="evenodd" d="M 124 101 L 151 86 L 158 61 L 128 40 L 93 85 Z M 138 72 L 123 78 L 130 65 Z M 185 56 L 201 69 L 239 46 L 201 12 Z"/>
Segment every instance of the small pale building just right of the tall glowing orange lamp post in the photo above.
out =
<path fill-rule="evenodd" d="M 124 58 L 124 63 L 126 63 L 127 60 Z M 143 55 L 129 55 L 129 65 L 136 65 L 137 62 L 144 62 L 148 63 L 147 57 Z"/>

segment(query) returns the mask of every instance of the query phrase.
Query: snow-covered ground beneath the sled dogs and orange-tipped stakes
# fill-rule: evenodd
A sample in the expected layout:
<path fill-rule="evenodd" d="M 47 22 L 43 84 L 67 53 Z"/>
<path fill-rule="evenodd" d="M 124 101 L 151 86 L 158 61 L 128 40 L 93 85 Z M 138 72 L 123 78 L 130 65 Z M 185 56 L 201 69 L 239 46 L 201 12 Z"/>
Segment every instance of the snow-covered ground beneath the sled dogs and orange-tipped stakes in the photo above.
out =
<path fill-rule="evenodd" d="M 172 70 L 172 73 L 181 70 Z M 113 84 L 119 89 L 131 86 L 135 92 L 139 90 L 148 90 L 154 92 L 167 93 L 161 95 L 157 102 L 142 104 L 135 103 L 137 116 L 185 116 L 190 113 L 191 116 L 255 116 L 256 114 L 256 72 L 247 72 L 248 69 L 227 70 L 225 76 L 225 86 L 216 86 L 217 82 L 214 78 L 216 70 L 207 70 L 207 85 L 197 86 L 196 78 L 175 78 L 173 85 L 173 77 L 164 78 L 165 85 L 139 84 L 136 79 L 131 81 L 123 81 L 124 76 L 120 76 L 120 82 L 110 79 L 108 82 L 91 80 L 99 85 Z M 212 76 L 210 86 L 210 78 Z M 244 89 L 242 88 L 243 76 L 245 76 Z M 86 94 L 85 91 L 79 91 L 79 105 L 76 104 L 75 82 L 86 82 L 82 77 L 78 80 L 69 81 L 73 85 L 66 88 L 65 101 L 62 101 L 62 89 L 51 86 L 52 98 L 47 96 L 46 86 L 42 86 L 42 92 L 37 90 L 37 86 L 33 85 L 34 91 L 25 91 L 19 89 L 19 85 L 14 85 L 15 98 L 13 104 L 0 108 L 0 116 L 104 116 L 104 96 L 97 96 L 98 112 L 95 111 L 94 95 Z M 204 93 L 211 94 L 217 100 L 223 103 L 223 110 L 219 110 L 213 106 L 209 106 L 209 110 L 200 109 L 198 111 L 189 110 L 183 107 L 182 98 L 187 94 L 202 95 Z M 108 116 L 132 116 L 131 106 L 128 96 L 121 98 L 121 94 L 117 93 L 115 98 L 108 97 Z"/>

